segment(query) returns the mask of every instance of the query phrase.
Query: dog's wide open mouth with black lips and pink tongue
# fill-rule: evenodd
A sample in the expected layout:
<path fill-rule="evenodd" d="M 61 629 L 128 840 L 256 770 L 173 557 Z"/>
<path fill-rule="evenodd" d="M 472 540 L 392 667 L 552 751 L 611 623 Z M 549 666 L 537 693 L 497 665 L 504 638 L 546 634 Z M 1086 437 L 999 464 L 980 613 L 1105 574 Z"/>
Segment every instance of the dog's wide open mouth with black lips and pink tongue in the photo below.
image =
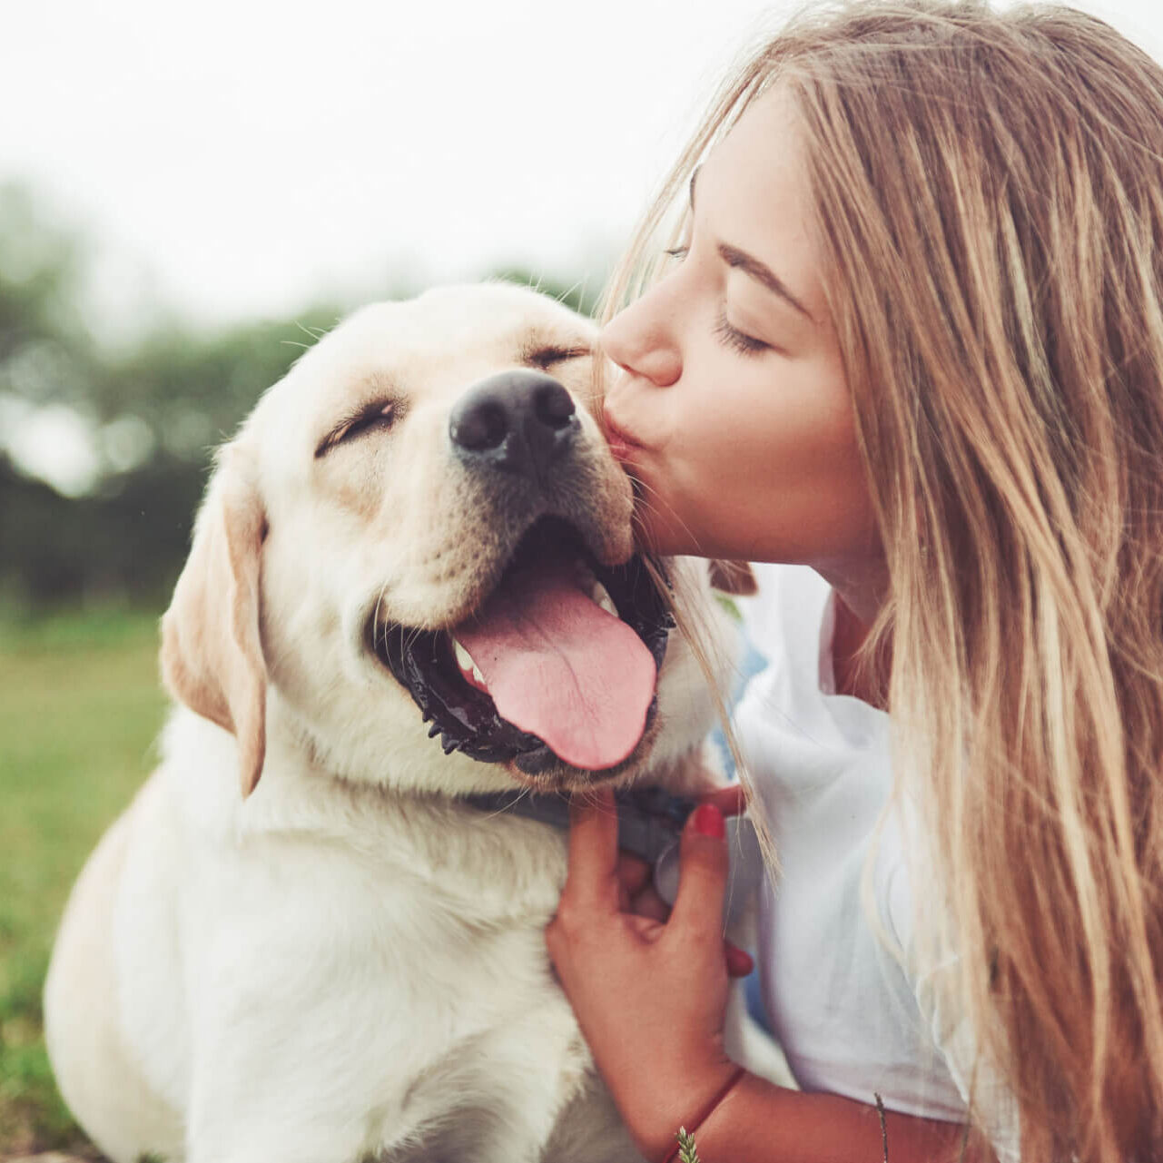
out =
<path fill-rule="evenodd" d="M 540 775 L 604 771 L 633 754 L 672 625 L 641 558 L 605 568 L 571 525 L 542 518 L 458 626 L 369 633 L 445 752 Z"/>

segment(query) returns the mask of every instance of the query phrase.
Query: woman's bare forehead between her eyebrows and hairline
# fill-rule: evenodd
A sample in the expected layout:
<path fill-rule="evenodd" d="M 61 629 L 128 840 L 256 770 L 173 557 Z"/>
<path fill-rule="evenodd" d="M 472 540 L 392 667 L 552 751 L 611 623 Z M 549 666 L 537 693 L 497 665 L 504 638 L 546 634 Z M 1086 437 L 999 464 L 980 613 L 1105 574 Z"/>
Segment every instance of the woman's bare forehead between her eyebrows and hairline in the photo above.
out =
<path fill-rule="evenodd" d="M 694 205 L 718 242 L 770 266 L 820 319 L 826 312 L 805 150 L 794 98 L 776 86 L 711 151 Z"/>

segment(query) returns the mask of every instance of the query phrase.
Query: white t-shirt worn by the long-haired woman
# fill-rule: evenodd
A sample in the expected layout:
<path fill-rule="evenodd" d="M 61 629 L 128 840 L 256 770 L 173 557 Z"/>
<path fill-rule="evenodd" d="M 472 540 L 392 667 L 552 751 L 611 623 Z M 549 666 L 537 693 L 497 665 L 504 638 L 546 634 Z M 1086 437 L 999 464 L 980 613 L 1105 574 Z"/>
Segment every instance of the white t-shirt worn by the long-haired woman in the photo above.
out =
<path fill-rule="evenodd" d="M 772 1032 L 799 1085 L 887 1110 L 963 1122 L 973 1040 L 928 1001 L 886 948 L 862 900 L 865 857 L 892 789 L 889 716 L 836 694 L 830 586 L 799 565 L 756 566 L 742 601 L 766 666 L 736 707 L 740 745 L 782 863 L 762 891 L 759 980 Z M 897 811 L 884 816 L 871 906 L 909 949 L 912 889 Z M 907 957 L 906 957 L 907 963 Z M 1013 1104 L 980 1071 L 978 1112 L 1004 1163 L 1016 1161 Z"/>

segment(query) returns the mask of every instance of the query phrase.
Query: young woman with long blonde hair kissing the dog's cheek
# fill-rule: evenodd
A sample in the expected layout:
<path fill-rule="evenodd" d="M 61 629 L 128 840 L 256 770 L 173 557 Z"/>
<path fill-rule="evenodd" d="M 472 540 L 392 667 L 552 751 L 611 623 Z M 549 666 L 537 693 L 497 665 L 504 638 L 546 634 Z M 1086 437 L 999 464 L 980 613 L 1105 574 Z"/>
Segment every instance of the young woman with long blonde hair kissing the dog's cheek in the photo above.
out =
<path fill-rule="evenodd" d="M 662 923 L 576 809 L 547 940 L 643 1154 L 1163 1158 L 1163 72 L 1069 8 L 816 9 L 716 100 L 609 315 L 643 538 L 811 566 L 761 571 L 737 719 L 805 1090 L 722 1050 L 719 812 Z"/>

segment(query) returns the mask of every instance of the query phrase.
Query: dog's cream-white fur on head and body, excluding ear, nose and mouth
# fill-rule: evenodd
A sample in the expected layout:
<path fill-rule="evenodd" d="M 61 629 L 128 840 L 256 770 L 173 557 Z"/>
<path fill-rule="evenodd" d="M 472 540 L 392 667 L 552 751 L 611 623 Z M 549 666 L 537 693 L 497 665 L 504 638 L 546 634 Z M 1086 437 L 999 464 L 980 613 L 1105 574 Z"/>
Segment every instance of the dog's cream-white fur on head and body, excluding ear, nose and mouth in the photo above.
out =
<path fill-rule="evenodd" d="M 544 951 L 565 837 L 461 802 L 514 773 L 445 757 L 362 642 L 377 605 L 450 625 L 492 584 L 465 564 L 494 533 L 444 433 L 459 394 L 516 366 L 530 330 L 592 340 L 504 286 L 365 308 L 263 398 L 220 463 L 192 563 L 227 491 L 257 498 L 262 777 L 244 797 L 236 735 L 178 706 L 159 769 L 74 889 L 45 992 L 62 1092 L 119 1163 L 637 1157 Z M 580 398 L 588 361 L 554 373 Z M 399 430 L 315 457 L 334 418 L 387 379 L 407 399 Z M 584 431 L 616 559 L 629 492 L 587 414 Z M 661 726 L 627 780 L 705 780 L 700 691 L 672 635 Z"/>

